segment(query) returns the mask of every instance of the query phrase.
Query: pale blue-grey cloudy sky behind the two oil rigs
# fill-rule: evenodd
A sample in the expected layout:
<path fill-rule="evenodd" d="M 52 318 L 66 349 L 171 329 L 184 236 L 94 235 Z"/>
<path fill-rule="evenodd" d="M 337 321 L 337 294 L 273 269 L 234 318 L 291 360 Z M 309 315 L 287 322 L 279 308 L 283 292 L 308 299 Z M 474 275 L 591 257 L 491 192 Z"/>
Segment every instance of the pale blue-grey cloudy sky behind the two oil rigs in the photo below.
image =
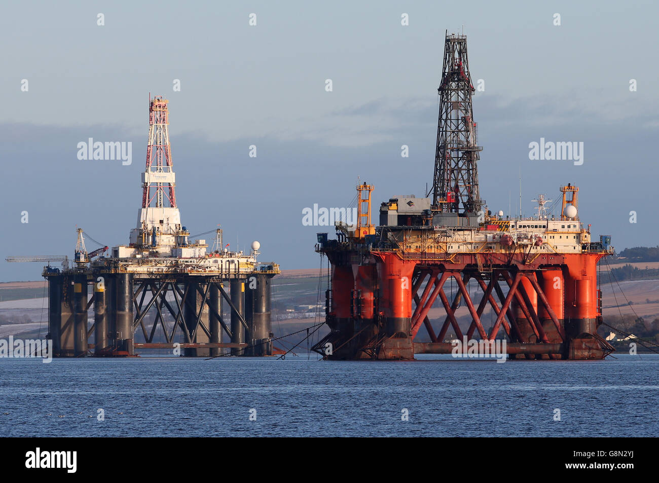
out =
<path fill-rule="evenodd" d="M 375 186 L 377 217 L 380 202 L 432 185 L 446 30 L 467 35 L 483 81 L 473 111 L 488 208 L 517 214 L 520 177 L 525 215 L 572 183 L 594 239 L 655 246 L 658 15 L 649 1 L 7 2 L 0 281 L 40 279 L 42 264 L 9 255 L 72 258 L 76 226 L 128 243 L 150 94 L 169 99 L 190 233 L 220 224 L 232 249 L 258 240 L 262 261 L 316 268 L 316 233 L 333 230 L 304 226 L 304 208 L 348 207 L 359 179 Z M 131 142 L 131 163 L 78 159 L 88 138 Z M 529 159 L 540 138 L 583 142 L 583 164 Z"/>

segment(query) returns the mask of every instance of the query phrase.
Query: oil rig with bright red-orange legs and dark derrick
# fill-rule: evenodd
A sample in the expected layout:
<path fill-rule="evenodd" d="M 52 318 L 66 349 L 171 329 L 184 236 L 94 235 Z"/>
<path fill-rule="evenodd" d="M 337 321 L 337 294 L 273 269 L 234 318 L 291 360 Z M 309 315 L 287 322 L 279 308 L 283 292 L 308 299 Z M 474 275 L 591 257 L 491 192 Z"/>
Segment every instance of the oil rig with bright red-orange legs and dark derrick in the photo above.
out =
<path fill-rule="evenodd" d="M 614 349 L 597 333 L 602 298 L 598 261 L 611 237 L 593 242 L 578 216 L 577 186 L 561 187 L 559 217 L 538 198 L 531 218 L 487 210 L 478 191 L 474 86 L 466 36 L 447 34 L 432 189 L 424 198 L 394 196 L 370 219 L 372 185 L 357 186 L 357 225 L 336 223 L 337 238 L 318 233 L 316 252 L 328 257 L 328 335 L 314 351 L 330 359 L 413 359 L 452 353 L 450 339 L 494 342 L 505 337 L 508 358 L 601 359 Z M 452 280 L 455 279 L 453 282 Z M 447 282 L 457 286 L 452 300 Z M 468 289 L 474 281 L 480 297 Z M 473 291 L 472 291 L 473 292 Z M 430 308 L 441 300 L 444 322 Z M 456 311 L 469 310 L 469 327 Z M 494 314 L 489 330 L 486 306 Z M 494 320 L 496 318 L 496 320 Z M 440 323 L 441 323 L 440 319 Z M 429 342 L 415 341 L 424 327 Z M 419 337 L 420 339 L 420 337 Z"/>

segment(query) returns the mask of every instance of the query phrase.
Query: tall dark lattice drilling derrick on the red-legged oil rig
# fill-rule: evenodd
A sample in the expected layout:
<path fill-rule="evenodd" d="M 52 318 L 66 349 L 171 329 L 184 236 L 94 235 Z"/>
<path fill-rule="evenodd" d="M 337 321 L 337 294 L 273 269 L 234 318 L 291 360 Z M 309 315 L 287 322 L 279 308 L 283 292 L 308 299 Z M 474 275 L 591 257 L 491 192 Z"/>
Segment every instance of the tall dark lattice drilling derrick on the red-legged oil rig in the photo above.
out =
<path fill-rule="evenodd" d="M 474 86 L 467 59 L 467 36 L 447 35 L 444 69 L 438 88 L 437 128 L 432 207 L 439 212 L 478 213 L 484 202 L 478 194 L 476 123 L 471 97 Z"/>

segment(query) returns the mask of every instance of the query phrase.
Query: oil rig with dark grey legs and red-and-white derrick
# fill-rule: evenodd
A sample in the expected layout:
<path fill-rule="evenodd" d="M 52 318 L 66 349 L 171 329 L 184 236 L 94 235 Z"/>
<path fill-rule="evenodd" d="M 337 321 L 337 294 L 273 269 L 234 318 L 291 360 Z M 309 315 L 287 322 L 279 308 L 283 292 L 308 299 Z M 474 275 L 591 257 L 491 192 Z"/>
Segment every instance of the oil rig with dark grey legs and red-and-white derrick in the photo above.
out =
<path fill-rule="evenodd" d="M 53 356 L 134 356 L 137 349 L 177 348 L 183 356 L 278 352 L 272 346 L 270 289 L 279 266 L 256 260 L 258 241 L 252 242 L 249 254 L 232 252 L 228 244 L 222 246 L 222 231 L 216 229 L 208 252 L 206 241 L 191 241 L 181 225 L 167 103 L 160 96 L 149 99 L 142 206 L 129 244 L 113 246 L 110 256 L 103 256 L 107 246 L 88 253 L 84 232 L 78 229 L 72 266 L 66 256 L 7 258 L 63 262 L 62 269 L 43 269 Z M 229 320 L 223 317 L 224 302 Z M 92 306 L 94 323 L 89 326 Z M 169 316 L 173 323 L 165 320 Z M 136 332 L 144 342 L 136 341 L 142 339 Z"/>

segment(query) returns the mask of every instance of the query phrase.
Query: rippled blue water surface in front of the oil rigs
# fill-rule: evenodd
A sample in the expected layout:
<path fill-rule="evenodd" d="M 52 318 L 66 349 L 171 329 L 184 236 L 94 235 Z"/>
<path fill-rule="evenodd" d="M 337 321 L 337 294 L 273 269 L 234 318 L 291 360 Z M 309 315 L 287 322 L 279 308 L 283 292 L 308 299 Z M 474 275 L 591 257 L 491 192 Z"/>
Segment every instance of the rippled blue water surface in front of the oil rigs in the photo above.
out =
<path fill-rule="evenodd" d="M 659 356 L 616 357 L 0 359 L 0 434 L 658 436 Z"/>

